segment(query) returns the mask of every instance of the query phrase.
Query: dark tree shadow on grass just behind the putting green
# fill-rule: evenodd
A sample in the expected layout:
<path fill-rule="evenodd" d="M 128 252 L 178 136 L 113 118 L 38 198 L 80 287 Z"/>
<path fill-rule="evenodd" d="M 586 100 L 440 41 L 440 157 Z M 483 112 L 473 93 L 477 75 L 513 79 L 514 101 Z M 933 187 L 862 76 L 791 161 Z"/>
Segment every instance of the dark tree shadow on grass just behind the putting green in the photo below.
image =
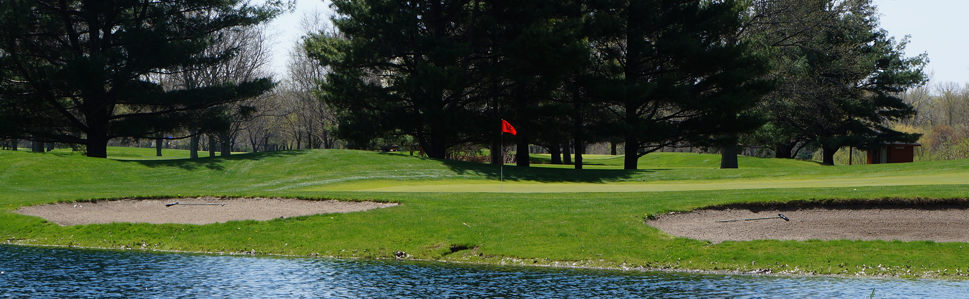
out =
<path fill-rule="evenodd" d="M 379 153 L 383 155 L 399 155 Z M 407 155 L 403 155 L 407 156 Z M 443 164 L 457 174 L 481 175 L 487 179 L 499 180 L 502 177 L 500 165 L 453 160 L 413 157 L 425 161 Z M 630 180 L 641 174 L 655 172 L 662 169 L 569 169 L 548 167 L 519 167 L 506 164 L 504 167 L 505 181 L 536 181 L 543 183 L 607 183 Z"/>

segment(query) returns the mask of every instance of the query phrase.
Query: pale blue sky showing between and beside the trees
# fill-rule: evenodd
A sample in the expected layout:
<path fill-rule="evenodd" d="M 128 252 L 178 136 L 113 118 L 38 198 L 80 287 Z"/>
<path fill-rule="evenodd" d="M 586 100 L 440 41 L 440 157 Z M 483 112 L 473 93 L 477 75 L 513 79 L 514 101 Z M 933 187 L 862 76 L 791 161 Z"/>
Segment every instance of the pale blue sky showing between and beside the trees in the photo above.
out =
<path fill-rule="evenodd" d="M 969 82 L 969 1 L 966 0 L 875 0 L 882 14 L 882 28 L 897 40 L 911 35 L 906 53 L 928 53 L 927 72 L 933 82 Z M 278 32 L 273 55 L 277 79 L 285 74 L 289 49 L 304 33 L 298 29 L 306 12 L 329 12 L 323 0 L 297 0 L 297 11 L 282 15 L 272 25 Z"/>

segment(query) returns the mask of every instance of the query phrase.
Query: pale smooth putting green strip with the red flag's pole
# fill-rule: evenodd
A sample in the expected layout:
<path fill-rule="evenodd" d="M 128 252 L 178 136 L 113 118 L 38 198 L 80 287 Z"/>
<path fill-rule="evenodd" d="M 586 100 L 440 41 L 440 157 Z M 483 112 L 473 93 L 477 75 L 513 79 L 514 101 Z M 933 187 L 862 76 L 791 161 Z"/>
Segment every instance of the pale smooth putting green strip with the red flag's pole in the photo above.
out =
<path fill-rule="evenodd" d="M 354 190 L 358 192 L 478 192 L 478 193 L 610 193 L 691 190 L 838 188 L 864 186 L 969 185 L 969 173 L 906 175 L 869 178 L 736 180 L 717 182 L 657 183 L 536 183 L 440 184 L 392 186 Z"/>

